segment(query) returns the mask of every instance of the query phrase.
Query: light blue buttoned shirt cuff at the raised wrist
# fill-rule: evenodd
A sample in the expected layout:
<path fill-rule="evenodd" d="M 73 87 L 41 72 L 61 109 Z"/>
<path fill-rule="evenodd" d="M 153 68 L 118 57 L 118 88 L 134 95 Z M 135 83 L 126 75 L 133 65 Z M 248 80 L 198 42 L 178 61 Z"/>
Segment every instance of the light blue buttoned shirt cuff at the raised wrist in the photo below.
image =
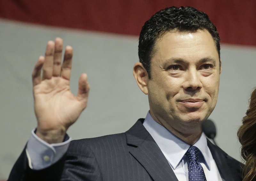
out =
<path fill-rule="evenodd" d="M 26 154 L 29 167 L 33 170 L 41 170 L 56 163 L 67 152 L 71 137 L 65 135 L 64 142 L 49 144 L 40 139 L 35 130 L 28 140 Z"/>

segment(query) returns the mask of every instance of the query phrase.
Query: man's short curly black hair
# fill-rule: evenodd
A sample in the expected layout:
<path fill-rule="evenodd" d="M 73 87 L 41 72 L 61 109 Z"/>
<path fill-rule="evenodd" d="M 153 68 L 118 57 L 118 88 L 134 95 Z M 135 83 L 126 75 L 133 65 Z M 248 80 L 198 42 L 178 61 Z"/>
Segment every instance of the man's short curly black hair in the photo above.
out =
<path fill-rule="evenodd" d="M 172 6 L 158 11 L 143 25 L 139 38 L 139 59 L 150 79 L 150 60 L 155 52 L 156 39 L 163 33 L 178 30 L 195 32 L 206 29 L 212 35 L 220 60 L 220 37 L 207 14 L 193 7 Z"/>

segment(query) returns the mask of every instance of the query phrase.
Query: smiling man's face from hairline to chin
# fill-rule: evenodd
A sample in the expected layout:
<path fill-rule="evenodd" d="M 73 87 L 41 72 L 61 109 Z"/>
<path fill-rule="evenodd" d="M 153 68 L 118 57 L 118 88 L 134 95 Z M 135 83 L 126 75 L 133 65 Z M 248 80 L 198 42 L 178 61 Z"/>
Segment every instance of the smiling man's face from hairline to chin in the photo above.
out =
<path fill-rule="evenodd" d="M 209 117 L 217 103 L 220 63 L 207 30 L 165 33 L 156 41 L 150 68 L 148 99 L 157 122 L 182 131 Z"/>

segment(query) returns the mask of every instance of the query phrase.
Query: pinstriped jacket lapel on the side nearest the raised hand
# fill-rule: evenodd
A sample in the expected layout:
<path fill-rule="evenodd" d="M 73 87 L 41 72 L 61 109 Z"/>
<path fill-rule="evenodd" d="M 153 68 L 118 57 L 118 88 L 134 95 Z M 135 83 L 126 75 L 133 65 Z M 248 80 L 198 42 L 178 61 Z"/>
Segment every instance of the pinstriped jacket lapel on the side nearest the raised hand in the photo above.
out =
<path fill-rule="evenodd" d="M 131 146 L 130 153 L 147 170 L 153 180 L 178 181 L 164 154 L 142 125 L 143 121 L 144 119 L 139 119 L 126 132 L 127 144 Z"/>

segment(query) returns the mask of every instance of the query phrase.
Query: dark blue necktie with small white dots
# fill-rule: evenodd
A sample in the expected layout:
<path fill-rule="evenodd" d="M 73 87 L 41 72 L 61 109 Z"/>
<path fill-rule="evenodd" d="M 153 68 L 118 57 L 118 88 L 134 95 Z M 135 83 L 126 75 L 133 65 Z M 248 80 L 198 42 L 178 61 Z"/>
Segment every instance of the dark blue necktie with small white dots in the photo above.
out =
<path fill-rule="evenodd" d="M 188 180 L 189 181 L 206 181 L 204 175 L 204 169 L 202 165 L 198 162 L 199 149 L 195 146 L 188 148 L 186 152 L 188 158 Z"/>

